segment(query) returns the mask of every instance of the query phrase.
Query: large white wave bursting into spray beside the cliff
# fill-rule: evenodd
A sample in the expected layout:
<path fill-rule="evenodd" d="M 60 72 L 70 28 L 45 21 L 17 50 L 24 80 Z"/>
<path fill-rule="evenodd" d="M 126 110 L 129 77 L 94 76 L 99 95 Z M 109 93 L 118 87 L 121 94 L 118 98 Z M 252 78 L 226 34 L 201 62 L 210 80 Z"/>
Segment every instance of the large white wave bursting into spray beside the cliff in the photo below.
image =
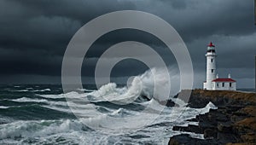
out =
<path fill-rule="evenodd" d="M 148 100 L 154 97 L 155 100 L 166 101 L 164 92 L 170 90 L 168 88 L 170 87 L 169 82 L 177 82 L 177 72 L 170 69 L 166 73 L 163 68 L 153 68 L 141 75 L 132 77 L 131 82 L 128 82 L 123 88 L 118 88 L 115 83 L 104 84 L 99 90 L 94 90 L 87 96 L 95 96 L 108 102 L 120 102 L 121 104 L 134 102 L 137 97 L 142 96 L 147 97 Z M 171 78 L 171 80 L 167 78 Z M 172 92 L 167 98 L 174 96 L 179 90 L 177 88 L 178 83 L 173 85 Z"/>

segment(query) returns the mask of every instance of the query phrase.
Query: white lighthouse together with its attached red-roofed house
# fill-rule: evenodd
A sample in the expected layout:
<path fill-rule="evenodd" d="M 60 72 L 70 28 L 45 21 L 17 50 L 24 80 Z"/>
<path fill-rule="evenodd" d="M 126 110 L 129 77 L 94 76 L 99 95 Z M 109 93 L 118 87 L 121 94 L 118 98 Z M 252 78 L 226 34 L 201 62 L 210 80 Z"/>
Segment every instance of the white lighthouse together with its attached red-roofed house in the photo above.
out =
<path fill-rule="evenodd" d="M 232 79 L 230 74 L 228 78 L 218 78 L 216 76 L 216 52 L 215 46 L 207 46 L 207 81 L 203 83 L 204 90 L 236 90 L 236 80 Z"/>

